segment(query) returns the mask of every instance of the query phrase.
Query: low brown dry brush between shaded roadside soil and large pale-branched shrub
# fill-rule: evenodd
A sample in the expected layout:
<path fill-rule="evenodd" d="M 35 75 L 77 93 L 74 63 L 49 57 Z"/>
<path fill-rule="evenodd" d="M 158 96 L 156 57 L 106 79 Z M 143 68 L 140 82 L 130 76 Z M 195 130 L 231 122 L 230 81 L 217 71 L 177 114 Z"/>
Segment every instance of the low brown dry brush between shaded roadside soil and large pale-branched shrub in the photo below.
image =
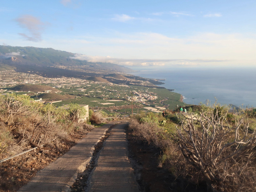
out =
<path fill-rule="evenodd" d="M 140 118 L 138 116 L 131 119 L 129 129 L 133 130 L 134 135 L 144 138 L 148 143 L 154 144 L 161 149 L 158 167 L 168 170 L 176 178 L 187 177 L 188 174 L 193 172 L 193 167 L 191 168 L 191 165 L 187 164 L 184 156 L 178 149 L 177 143 L 173 141 L 174 125 L 171 122 L 166 124 L 169 125 L 168 127 L 164 127 L 152 122 L 140 123 L 139 121 Z"/>

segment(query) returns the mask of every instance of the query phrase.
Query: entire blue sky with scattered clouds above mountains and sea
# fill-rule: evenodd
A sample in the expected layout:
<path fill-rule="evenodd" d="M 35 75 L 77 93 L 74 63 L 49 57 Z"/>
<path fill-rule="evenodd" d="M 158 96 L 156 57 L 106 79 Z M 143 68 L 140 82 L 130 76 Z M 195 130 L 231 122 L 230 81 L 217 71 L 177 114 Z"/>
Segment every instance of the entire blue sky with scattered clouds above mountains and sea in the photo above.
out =
<path fill-rule="evenodd" d="M 255 66 L 255 0 L 0 1 L 0 44 L 126 66 Z"/>

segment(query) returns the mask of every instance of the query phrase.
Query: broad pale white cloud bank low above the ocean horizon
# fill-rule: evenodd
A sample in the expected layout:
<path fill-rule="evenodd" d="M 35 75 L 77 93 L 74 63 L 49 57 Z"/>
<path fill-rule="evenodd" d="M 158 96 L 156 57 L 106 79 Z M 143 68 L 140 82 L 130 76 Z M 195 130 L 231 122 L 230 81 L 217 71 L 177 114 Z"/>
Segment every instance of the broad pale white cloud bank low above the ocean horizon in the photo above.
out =
<path fill-rule="evenodd" d="M 249 34 L 198 33 L 182 38 L 159 33 L 122 34 L 112 31 L 112 34 L 114 35 L 108 38 L 79 36 L 70 41 L 52 38 L 50 47 L 86 54 L 86 57 L 76 55 L 76 59 L 84 58 L 92 62 L 110 62 L 127 66 L 142 63 L 165 66 L 230 65 L 231 62 L 245 64 L 247 61 L 255 65 L 256 62 L 256 36 Z M 72 41 L 76 41 L 75 46 L 67 43 Z M 47 46 L 49 47 L 49 44 Z"/>

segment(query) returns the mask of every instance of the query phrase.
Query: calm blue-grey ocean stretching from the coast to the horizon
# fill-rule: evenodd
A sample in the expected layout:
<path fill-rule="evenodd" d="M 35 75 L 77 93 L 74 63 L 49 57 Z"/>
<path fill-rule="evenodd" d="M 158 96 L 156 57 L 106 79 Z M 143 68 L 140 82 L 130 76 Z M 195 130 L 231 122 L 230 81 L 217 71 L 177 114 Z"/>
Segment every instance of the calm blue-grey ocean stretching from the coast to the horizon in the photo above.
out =
<path fill-rule="evenodd" d="M 246 68 L 185 68 L 132 67 L 132 75 L 165 79 L 163 86 L 180 93 L 187 104 L 233 104 L 256 107 L 256 67 Z"/>

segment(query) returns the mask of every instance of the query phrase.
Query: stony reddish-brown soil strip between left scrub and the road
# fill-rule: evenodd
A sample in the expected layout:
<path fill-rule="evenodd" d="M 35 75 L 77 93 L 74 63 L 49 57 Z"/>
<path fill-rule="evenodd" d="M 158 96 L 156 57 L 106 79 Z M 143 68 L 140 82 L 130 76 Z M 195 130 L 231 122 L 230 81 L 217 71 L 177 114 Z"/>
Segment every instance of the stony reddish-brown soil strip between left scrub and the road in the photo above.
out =
<path fill-rule="evenodd" d="M 74 132 L 59 148 L 46 146 L 0 163 L 0 192 L 17 191 L 25 185 L 37 171 L 64 155 L 85 136 L 86 132 Z"/>

